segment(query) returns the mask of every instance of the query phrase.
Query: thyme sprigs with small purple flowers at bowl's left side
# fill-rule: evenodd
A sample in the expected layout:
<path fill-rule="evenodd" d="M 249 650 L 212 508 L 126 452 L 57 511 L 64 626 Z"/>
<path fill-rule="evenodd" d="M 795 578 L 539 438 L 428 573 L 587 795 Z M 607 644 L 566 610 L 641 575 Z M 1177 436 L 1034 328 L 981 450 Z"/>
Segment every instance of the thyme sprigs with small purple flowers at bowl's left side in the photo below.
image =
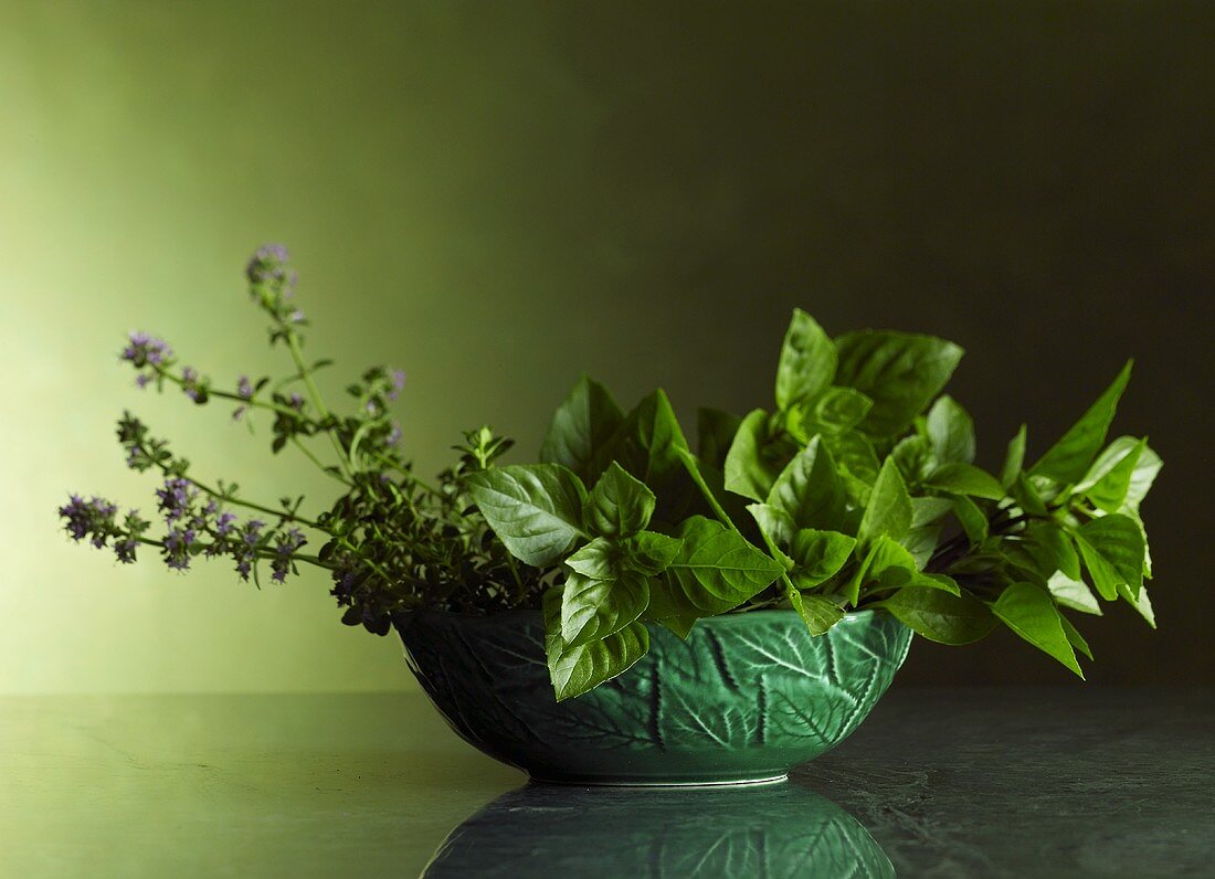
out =
<path fill-rule="evenodd" d="M 135 561 L 139 546 L 152 546 L 174 571 L 188 569 L 198 557 L 228 558 L 241 578 L 255 583 L 262 565 L 273 583 L 300 565 L 326 568 L 343 622 L 380 635 L 413 608 L 492 612 L 536 603 L 546 572 L 513 560 L 463 489 L 464 476 L 492 466 L 510 441 L 488 427 L 469 431 L 457 447 L 459 460 L 440 473 L 436 486 L 428 484 L 402 456 L 401 425 L 391 414 L 405 373 L 364 370 L 346 389 L 354 410 L 332 412 L 313 378 L 330 362 L 304 358 L 307 321 L 295 302 L 298 278 L 287 250 L 261 248 L 245 276 L 250 297 L 271 319 L 271 345 L 281 344 L 290 355 L 293 370 L 281 379 L 238 374 L 232 386 L 216 386 L 198 369 L 180 365 L 166 342 L 146 333 L 132 333 L 120 357 L 135 368 L 141 387 L 175 386 L 198 406 L 234 403 L 232 419 L 250 427 L 255 413 L 269 413 L 271 450 L 294 447 L 340 482 L 344 494 L 315 518 L 303 515 L 304 498 L 283 498 L 277 509 L 248 500 L 233 483 L 202 481 L 187 459 L 124 413 L 118 440 L 128 466 L 162 477 L 156 492 L 160 533 L 152 535 L 152 524 L 134 510 L 123 516 L 108 500 L 73 495 L 60 510 L 69 535 L 111 546 L 124 563 Z M 321 435 L 333 448 L 333 463 L 309 444 Z M 248 517 L 239 517 L 238 509 Z M 317 554 L 304 552 L 315 539 L 321 543 Z"/>

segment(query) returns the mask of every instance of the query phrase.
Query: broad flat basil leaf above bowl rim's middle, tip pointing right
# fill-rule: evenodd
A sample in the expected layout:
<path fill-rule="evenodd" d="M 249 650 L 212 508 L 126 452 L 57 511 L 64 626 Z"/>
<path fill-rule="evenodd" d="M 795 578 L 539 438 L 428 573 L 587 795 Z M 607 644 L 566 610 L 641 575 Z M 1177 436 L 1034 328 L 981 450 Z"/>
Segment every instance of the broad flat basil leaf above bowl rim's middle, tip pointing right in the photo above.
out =
<path fill-rule="evenodd" d="M 693 516 L 679 531 L 683 545 L 666 577 L 701 617 L 725 613 L 784 573 L 779 562 L 720 522 Z"/>

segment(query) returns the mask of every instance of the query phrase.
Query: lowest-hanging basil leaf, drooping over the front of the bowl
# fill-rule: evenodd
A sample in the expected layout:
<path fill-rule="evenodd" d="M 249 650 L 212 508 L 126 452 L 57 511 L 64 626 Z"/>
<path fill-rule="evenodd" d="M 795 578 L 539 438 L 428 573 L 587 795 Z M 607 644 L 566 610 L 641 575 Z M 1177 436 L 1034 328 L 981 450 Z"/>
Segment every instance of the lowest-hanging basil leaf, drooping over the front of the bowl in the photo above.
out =
<path fill-rule="evenodd" d="M 629 623 L 601 641 L 571 647 L 561 637 L 561 594 L 544 594 L 544 647 L 548 674 L 556 701 L 581 696 L 625 673 L 650 650 L 650 633 L 642 623 Z"/>

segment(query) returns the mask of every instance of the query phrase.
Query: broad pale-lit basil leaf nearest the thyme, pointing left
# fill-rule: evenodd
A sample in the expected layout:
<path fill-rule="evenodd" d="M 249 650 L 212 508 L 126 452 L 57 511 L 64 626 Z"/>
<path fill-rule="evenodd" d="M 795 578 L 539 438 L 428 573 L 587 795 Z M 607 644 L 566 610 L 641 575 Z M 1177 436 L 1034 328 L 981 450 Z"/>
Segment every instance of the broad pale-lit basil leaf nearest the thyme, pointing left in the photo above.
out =
<path fill-rule="evenodd" d="M 467 477 L 464 484 L 513 556 L 547 567 L 582 537 L 587 489 L 560 464 L 512 464 Z"/>

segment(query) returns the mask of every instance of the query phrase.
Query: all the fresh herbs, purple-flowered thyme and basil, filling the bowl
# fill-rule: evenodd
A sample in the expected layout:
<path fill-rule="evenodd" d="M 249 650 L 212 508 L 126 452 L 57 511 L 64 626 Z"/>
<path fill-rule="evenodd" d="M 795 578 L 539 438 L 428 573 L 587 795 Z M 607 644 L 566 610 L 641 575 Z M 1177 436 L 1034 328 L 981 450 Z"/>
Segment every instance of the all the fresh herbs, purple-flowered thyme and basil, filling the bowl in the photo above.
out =
<path fill-rule="evenodd" d="M 162 527 L 152 535 L 137 511 L 73 495 L 60 514 L 77 540 L 122 562 L 152 546 L 179 571 L 224 557 L 255 582 L 262 568 L 281 583 L 299 563 L 318 566 L 343 622 L 380 635 L 412 611 L 539 608 L 559 699 L 644 656 L 646 623 L 686 637 L 701 618 L 761 608 L 792 608 L 812 636 L 860 609 L 948 645 L 1004 624 L 1076 674 L 1076 651 L 1091 653 L 1068 613 L 1100 616 L 1098 599 L 1121 599 L 1154 625 L 1140 504 L 1162 461 L 1145 440 L 1107 444 L 1129 363 L 1034 464 L 1022 426 L 991 473 L 974 464 L 970 415 L 939 396 L 959 346 L 893 331 L 831 339 L 796 311 L 773 410 L 702 409 L 695 452 L 661 390 L 626 413 L 583 378 L 539 463 L 499 465 L 512 443 L 481 427 L 428 484 L 390 415 L 403 374 L 368 369 L 347 387 L 352 412 L 330 410 L 313 380 L 329 363 L 304 356 L 286 251 L 262 248 L 247 274 L 271 345 L 289 353 L 286 375 L 220 390 L 145 334 L 123 359 L 140 386 L 234 403 L 237 420 L 265 414 L 272 452 L 290 446 L 340 497 L 315 517 L 304 498 L 247 500 L 234 483 L 200 481 L 124 414 L 128 464 L 163 478 Z M 313 543 L 315 555 L 303 551 Z"/>

